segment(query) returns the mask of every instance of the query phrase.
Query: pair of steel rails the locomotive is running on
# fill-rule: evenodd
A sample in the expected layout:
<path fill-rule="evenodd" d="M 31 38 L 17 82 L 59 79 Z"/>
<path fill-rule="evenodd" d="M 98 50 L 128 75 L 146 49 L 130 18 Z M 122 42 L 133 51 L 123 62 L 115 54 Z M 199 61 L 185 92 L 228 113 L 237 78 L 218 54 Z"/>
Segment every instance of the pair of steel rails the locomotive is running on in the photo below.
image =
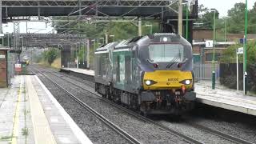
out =
<path fill-rule="evenodd" d="M 62 78 L 62 76 L 58 75 L 58 73 L 55 72 L 55 71 L 49 71 L 49 70 L 48 70 L 47 72 L 49 72 L 49 73 L 51 73 L 51 74 L 54 74 L 54 75 L 55 75 L 56 77 L 58 77 L 58 78 Z M 68 74 L 65 74 L 65 75 L 66 75 L 67 77 L 69 77 Z M 70 81 L 67 81 L 66 79 L 63 79 L 63 80 L 66 81 L 66 82 L 70 82 Z M 82 82 L 82 83 L 84 83 L 84 84 L 86 85 L 86 82 L 80 80 L 79 78 L 76 78 L 75 80 L 78 81 L 78 82 Z M 98 97 L 102 98 L 100 94 L 98 94 L 98 93 L 96 93 L 96 92 L 92 92 L 92 91 L 90 91 L 90 90 L 87 90 L 86 88 L 84 88 L 84 87 L 82 87 L 82 86 L 79 86 L 79 85 L 78 85 L 77 83 L 75 83 L 75 82 L 70 82 L 70 83 L 72 83 L 72 84 L 75 85 L 75 86 L 80 87 L 82 90 L 86 90 L 87 92 L 89 92 L 89 93 L 91 93 L 91 94 L 95 94 L 95 95 L 97 95 Z M 94 85 L 90 85 L 90 87 L 94 89 Z M 116 103 L 114 103 L 114 102 L 111 102 L 111 101 L 107 100 L 106 98 L 102 98 L 102 100 L 103 100 L 104 102 L 109 103 L 111 106 L 115 106 L 115 107 L 117 107 L 118 109 L 123 110 L 123 111 L 125 111 L 126 113 L 128 113 L 128 114 L 130 114 L 130 115 L 133 115 L 135 118 L 141 119 L 141 120 L 144 121 L 144 122 L 152 123 L 152 124 L 154 124 L 155 126 L 160 127 L 162 130 L 165 130 L 166 132 L 168 132 L 168 133 L 170 133 L 170 134 L 174 134 L 174 135 L 176 135 L 176 136 L 178 136 L 178 137 L 184 138 L 184 139 L 186 139 L 187 142 L 202 143 L 202 142 L 199 142 L 199 141 L 195 140 L 194 138 L 190 138 L 190 137 L 188 137 L 188 136 L 186 136 L 186 135 L 184 135 L 184 134 L 180 134 L 180 133 L 178 133 L 178 132 L 175 131 L 175 130 L 171 130 L 171 129 L 168 128 L 167 126 L 164 126 L 164 125 L 162 125 L 162 124 L 159 124 L 158 122 L 155 122 L 155 121 L 151 120 L 150 118 L 145 118 L 145 117 L 143 117 L 142 115 L 137 114 L 137 113 L 135 113 L 135 112 L 132 111 L 132 110 L 128 110 L 128 109 L 126 109 L 126 108 L 123 107 L 123 106 L 120 106 L 120 105 L 118 105 L 118 104 L 116 104 Z M 198 124 L 195 124 L 195 123 L 192 123 L 192 122 L 189 122 L 189 121 L 186 121 L 186 123 L 187 123 L 188 125 L 190 125 L 190 126 L 193 126 L 194 128 L 197 128 L 198 130 L 206 131 L 207 133 L 214 134 L 214 135 L 216 135 L 216 136 L 218 136 L 218 137 L 220 137 L 220 138 L 224 138 L 224 139 L 226 139 L 226 140 L 228 140 L 228 141 L 230 141 L 230 142 L 234 142 L 234 143 L 245 143 L 245 144 L 253 144 L 253 142 L 248 142 L 248 141 L 246 141 L 246 140 L 244 140 L 244 139 L 242 139 L 242 138 L 236 138 L 236 137 L 234 137 L 234 136 L 232 136 L 232 135 L 230 135 L 230 134 L 224 134 L 224 133 L 222 133 L 222 132 L 220 132 L 220 131 L 218 131 L 218 130 L 213 130 L 213 129 L 210 129 L 210 128 L 206 127 L 206 126 L 198 125 Z"/>

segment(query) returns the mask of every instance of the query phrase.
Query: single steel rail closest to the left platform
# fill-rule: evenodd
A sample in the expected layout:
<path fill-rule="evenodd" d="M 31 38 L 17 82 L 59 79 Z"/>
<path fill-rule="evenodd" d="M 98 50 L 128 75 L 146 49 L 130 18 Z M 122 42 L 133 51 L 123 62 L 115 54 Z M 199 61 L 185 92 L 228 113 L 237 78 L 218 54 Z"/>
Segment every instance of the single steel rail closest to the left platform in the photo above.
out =
<path fill-rule="evenodd" d="M 37 69 L 35 69 L 37 70 Z M 97 117 L 101 122 L 105 123 L 106 126 L 109 126 L 112 130 L 120 134 L 123 138 L 125 138 L 130 143 L 139 144 L 139 142 L 136 138 L 131 136 L 130 134 L 127 134 L 126 131 L 122 130 L 118 126 L 114 125 L 113 122 L 110 122 L 107 118 L 102 116 L 102 114 L 99 114 L 97 111 L 93 110 L 90 106 L 86 105 L 85 102 L 82 102 L 79 98 L 77 98 L 74 94 L 71 94 L 68 90 L 60 86 L 57 82 L 54 82 L 51 78 L 49 78 L 46 74 L 43 74 L 40 72 L 40 70 L 37 70 L 40 74 L 42 74 L 45 78 L 47 78 L 50 82 L 52 82 L 55 86 L 57 86 L 59 89 L 63 90 L 70 98 L 73 98 L 74 101 L 78 102 L 79 105 L 84 107 L 86 110 L 88 110 L 91 114 L 93 114 L 95 117 Z"/>

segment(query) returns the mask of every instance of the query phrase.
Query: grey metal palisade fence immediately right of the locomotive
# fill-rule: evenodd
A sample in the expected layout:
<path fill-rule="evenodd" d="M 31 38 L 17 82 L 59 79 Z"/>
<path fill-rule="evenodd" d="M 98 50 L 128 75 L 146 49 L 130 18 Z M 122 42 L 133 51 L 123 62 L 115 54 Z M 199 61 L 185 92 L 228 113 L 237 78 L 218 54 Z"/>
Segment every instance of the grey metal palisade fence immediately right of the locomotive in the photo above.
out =
<path fill-rule="evenodd" d="M 219 64 L 194 64 L 194 78 L 198 81 L 211 80 L 212 72 L 216 73 L 216 80 L 219 79 Z"/>

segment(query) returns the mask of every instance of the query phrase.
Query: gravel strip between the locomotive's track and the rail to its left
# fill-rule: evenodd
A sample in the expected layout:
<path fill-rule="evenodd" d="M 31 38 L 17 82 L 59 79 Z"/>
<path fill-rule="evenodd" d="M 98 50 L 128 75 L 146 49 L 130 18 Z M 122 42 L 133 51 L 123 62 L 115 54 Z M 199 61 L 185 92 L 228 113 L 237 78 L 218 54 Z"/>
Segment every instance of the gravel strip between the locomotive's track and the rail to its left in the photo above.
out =
<path fill-rule="evenodd" d="M 142 143 L 187 143 L 182 138 L 166 133 L 166 131 L 158 128 L 158 126 L 134 118 L 134 116 L 126 114 L 114 106 L 110 106 L 109 103 L 102 101 L 101 98 L 98 98 L 95 94 L 82 90 L 78 86 L 72 86 L 70 83 L 57 78 L 54 74 L 46 74 L 54 80 L 54 82 L 58 82 L 63 88 L 70 91 L 70 93 L 80 98 L 83 102 L 86 102 L 87 105 L 108 118 L 111 122 L 114 122 L 114 124 L 122 128 L 122 130 L 125 130 L 128 134 L 131 134 Z M 69 81 L 74 80 L 69 79 Z M 81 85 L 85 86 L 85 84 L 82 83 Z"/>

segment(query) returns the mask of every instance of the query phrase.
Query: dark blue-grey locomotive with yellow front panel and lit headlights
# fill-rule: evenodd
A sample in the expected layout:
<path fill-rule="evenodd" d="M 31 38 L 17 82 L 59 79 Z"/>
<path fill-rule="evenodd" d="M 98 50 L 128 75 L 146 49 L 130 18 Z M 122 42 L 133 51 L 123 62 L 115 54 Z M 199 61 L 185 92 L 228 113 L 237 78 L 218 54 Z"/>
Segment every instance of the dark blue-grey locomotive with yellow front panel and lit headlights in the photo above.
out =
<path fill-rule="evenodd" d="M 177 34 L 112 42 L 95 51 L 95 90 L 144 114 L 181 114 L 194 106 L 192 58 Z"/>

